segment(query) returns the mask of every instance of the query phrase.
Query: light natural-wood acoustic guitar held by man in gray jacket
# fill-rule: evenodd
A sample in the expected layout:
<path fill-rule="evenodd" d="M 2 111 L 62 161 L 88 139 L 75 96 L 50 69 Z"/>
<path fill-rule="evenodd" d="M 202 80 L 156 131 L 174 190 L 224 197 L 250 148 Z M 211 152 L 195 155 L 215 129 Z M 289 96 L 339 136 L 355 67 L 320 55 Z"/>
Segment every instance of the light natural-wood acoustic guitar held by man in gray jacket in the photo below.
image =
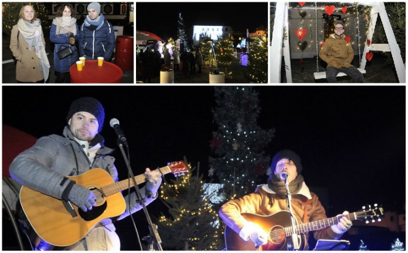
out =
<path fill-rule="evenodd" d="M 183 161 L 169 163 L 156 169 L 165 175 L 176 176 L 188 171 Z M 54 246 L 73 245 L 102 219 L 118 217 L 125 212 L 126 203 L 121 191 L 134 186 L 132 180 L 114 182 L 103 169 L 91 169 L 79 176 L 68 177 L 77 184 L 90 189 L 96 196 L 96 205 L 84 212 L 70 202 L 45 195 L 23 186 L 20 190 L 20 203 L 28 222 L 37 235 L 46 243 Z M 135 177 L 136 183 L 147 181 L 144 174 Z"/>

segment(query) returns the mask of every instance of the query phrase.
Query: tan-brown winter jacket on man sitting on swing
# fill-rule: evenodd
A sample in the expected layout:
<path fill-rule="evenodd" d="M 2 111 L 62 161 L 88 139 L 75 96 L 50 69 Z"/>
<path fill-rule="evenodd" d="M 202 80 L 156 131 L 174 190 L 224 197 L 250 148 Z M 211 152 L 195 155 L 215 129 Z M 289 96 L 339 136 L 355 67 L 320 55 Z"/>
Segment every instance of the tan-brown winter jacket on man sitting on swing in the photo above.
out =
<path fill-rule="evenodd" d="M 319 57 L 327 63 L 327 67 L 336 69 L 342 67 L 350 68 L 354 58 L 353 47 L 344 39 L 345 35 L 337 36 L 331 34 L 320 50 Z"/>

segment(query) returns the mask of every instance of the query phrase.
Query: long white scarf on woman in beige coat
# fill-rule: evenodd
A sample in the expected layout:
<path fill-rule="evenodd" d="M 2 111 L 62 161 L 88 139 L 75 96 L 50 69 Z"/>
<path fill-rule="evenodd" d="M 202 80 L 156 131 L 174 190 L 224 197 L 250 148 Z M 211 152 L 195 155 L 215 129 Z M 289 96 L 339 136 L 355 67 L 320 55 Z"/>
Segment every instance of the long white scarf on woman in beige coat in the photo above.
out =
<path fill-rule="evenodd" d="M 37 19 L 34 23 L 19 19 L 17 27 L 18 31 L 24 37 L 24 40 L 36 49 L 37 57 L 40 59 L 40 69 L 43 71 L 44 81 L 46 81 L 49 75 L 49 62 L 41 36 L 43 29 L 41 28 L 40 19 Z"/>

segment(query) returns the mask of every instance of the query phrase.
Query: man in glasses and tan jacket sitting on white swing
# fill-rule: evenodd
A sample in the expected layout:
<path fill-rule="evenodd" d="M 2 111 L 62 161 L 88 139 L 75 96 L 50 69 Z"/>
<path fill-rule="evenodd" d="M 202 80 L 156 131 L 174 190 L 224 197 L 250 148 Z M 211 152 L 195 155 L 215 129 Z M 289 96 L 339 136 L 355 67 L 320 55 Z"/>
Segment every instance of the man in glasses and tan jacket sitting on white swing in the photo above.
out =
<path fill-rule="evenodd" d="M 351 62 L 354 58 L 354 50 L 344 37 L 343 24 L 334 24 L 334 34 L 331 34 L 323 44 L 319 57 L 327 63 L 327 82 L 337 82 L 336 76 L 343 72 L 351 77 L 350 82 L 363 82 L 363 74 Z"/>

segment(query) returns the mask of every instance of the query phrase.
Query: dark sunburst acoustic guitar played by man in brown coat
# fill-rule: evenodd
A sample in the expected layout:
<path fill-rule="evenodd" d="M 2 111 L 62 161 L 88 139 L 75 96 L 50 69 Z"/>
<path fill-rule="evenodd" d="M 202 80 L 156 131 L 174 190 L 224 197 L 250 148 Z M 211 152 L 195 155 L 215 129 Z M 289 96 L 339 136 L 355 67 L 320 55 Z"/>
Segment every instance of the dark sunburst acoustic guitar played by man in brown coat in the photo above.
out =
<path fill-rule="evenodd" d="M 243 213 L 241 214 L 246 220 L 258 224 L 268 234 L 268 243 L 261 247 L 256 247 L 255 244 L 249 240 L 243 240 L 239 234 L 235 233 L 230 227 L 225 229 L 225 242 L 227 251 L 278 251 L 288 250 L 288 244 L 292 243 L 292 226 L 290 223 L 290 214 L 288 211 L 280 211 L 270 216 L 262 216 L 256 214 Z M 374 222 L 375 219 L 381 221 L 384 217 L 384 210 L 381 206 L 375 204 L 372 208 L 369 205 L 366 209 L 359 212 L 351 213 L 346 216 L 350 220 L 365 220 L 369 219 Z M 322 229 L 340 222 L 341 217 L 331 217 L 327 219 L 317 220 L 309 223 L 304 223 L 295 226 L 295 231 L 300 235 L 301 243 L 300 250 L 307 250 L 306 233 Z"/>

